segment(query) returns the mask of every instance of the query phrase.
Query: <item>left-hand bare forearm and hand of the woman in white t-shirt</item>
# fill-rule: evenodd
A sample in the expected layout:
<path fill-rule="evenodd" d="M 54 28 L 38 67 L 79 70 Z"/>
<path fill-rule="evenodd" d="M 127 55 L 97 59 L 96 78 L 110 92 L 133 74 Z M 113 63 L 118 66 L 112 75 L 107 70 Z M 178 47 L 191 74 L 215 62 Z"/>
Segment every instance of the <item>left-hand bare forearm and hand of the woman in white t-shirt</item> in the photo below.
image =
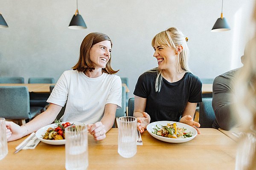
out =
<path fill-rule="evenodd" d="M 26 123 L 26 125 L 19 126 L 13 122 L 6 122 L 7 129 L 12 132 L 12 135 L 8 136 L 8 142 L 20 139 L 37 131 L 41 127 L 51 124 L 61 111 L 61 108 L 61 106 L 51 103 L 46 111 L 36 116 L 32 121 Z"/>

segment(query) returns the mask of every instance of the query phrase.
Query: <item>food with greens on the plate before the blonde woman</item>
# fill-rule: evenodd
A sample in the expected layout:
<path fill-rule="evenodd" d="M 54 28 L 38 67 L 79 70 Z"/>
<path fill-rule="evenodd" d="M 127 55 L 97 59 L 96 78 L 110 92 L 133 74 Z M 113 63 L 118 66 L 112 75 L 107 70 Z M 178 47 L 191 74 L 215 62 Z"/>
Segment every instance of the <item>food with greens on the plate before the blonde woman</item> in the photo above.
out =
<path fill-rule="evenodd" d="M 175 139 L 178 139 L 178 138 L 189 138 L 192 136 L 192 133 L 191 132 L 185 132 L 186 129 L 184 127 L 177 127 L 177 124 L 176 123 L 167 123 L 166 126 L 163 126 L 163 125 L 160 125 L 162 126 L 161 128 L 158 127 L 156 125 L 156 128 L 153 128 L 154 129 L 154 133 L 155 135 L 158 135 L 158 136 L 163 136 L 163 137 L 167 137 L 167 138 L 175 138 Z"/>

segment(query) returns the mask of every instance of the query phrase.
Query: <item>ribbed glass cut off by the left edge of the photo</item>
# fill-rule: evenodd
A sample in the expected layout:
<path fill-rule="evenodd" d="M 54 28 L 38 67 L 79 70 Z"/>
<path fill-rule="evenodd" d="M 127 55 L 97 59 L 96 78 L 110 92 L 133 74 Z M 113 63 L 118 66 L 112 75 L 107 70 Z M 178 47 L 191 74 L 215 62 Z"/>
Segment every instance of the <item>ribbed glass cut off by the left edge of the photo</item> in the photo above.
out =
<path fill-rule="evenodd" d="M 5 119 L 0 118 L 0 160 L 8 153 Z"/>

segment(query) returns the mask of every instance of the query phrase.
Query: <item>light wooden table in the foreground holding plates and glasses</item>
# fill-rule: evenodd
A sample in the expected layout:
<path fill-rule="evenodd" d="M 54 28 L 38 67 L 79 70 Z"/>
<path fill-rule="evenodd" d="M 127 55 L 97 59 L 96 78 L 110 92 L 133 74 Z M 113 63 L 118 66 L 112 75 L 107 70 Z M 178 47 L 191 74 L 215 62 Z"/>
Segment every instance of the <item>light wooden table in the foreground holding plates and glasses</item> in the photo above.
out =
<path fill-rule="evenodd" d="M 33 150 L 15 147 L 26 137 L 8 142 L 8 155 L 0 160 L 2 170 L 64 170 L 65 146 L 40 142 Z M 89 135 L 88 170 L 234 170 L 236 142 L 212 128 L 202 128 L 201 134 L 189 142 L 175 144 L 162 142 L 147 131 L 142 134 L 143 145 L 137 146 L 132 158 L 117 153 L 118 129 L 112 128 L 106 139 L 94 141 Z"/>

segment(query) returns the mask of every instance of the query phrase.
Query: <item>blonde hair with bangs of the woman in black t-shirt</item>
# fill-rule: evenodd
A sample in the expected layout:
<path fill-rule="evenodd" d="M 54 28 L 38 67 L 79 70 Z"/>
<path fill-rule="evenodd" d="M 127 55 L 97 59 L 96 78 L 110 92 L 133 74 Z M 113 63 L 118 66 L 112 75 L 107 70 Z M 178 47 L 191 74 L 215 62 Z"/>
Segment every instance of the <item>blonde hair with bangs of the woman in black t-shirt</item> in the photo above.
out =
<path fill-rule="evenodd" d="M 186 44 L 186 41 L 188 40 L 187 37 L 185 37 L 182 32 L 180 32 L 177 28 L 171 27 L 168 28 L 166 31 L 162 31 L 158 34 L 156 34 L 151 42 L 152 47 L 156 44 L 158 45 L 165 45 L 168 47 L 175 48 L 177 50 L 177 46 L 182 45 L 183 50 L 179 53 L 178 56 L 178 71 L 184 71 L 189 72 L 189 67 L 187 64 L 187 60 L 189 57 L 189 48 Z M 156 72 L 157 78 L 155 83 L 155 89 L 156 92 L 160 92 L 162 82 L 163 82 L 163 70 L 160 70 L 159 68 L 153 68 L 149 70 L 148 72 Z"/>

